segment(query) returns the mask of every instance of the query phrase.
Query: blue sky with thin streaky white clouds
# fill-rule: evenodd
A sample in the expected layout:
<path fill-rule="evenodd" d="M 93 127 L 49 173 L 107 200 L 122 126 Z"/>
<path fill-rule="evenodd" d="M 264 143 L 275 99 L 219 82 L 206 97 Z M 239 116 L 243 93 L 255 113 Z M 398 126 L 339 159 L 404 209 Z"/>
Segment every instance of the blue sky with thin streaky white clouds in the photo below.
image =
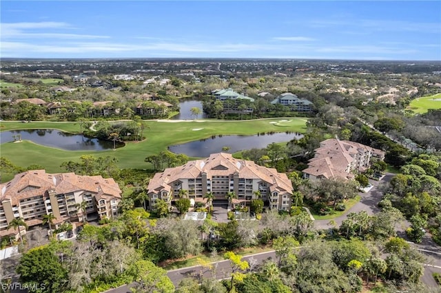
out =
<path fill-rule="evenodd" d="M 1 1 L 0 57 L 441 60 L 441 1 Z"/>

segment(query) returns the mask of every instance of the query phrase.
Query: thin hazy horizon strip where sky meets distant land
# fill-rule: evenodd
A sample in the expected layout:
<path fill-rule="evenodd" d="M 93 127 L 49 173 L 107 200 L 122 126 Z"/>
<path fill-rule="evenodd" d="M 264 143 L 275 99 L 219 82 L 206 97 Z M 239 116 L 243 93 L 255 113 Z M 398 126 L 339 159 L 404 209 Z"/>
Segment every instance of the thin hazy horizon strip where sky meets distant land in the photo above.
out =
<path fill-rule="evenodd" d="M 3 61 L 25 60 L 283 60 L 283 61 L 369 61 L 369 62 L 436 62 L 441 60 L 403 60 L 403 59 L 341 59 L 341 58 L 277 58 L 277 57 L 4 57 Z"/>

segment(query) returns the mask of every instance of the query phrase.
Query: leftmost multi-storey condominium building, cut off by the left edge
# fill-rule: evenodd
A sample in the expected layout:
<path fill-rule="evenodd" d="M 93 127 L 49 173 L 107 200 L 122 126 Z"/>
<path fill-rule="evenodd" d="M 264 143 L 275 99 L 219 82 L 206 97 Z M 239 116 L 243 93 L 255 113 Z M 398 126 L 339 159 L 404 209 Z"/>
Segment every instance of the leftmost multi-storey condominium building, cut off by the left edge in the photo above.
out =
<path fill-rule="evenodd" d="M 54 224 L 82 221 L 88 214 L 100 219 L 114 217 L 121 201 L 121 189 L 112 178 L 80 176 L 74 173 L 26 171 L 0 185 L 0 236 L 11 234 L 8 224 L 21 218 L 28 226 L 41 224 L 52 213 Z M 85 215 L 79 208 L 85 202 Z"/>

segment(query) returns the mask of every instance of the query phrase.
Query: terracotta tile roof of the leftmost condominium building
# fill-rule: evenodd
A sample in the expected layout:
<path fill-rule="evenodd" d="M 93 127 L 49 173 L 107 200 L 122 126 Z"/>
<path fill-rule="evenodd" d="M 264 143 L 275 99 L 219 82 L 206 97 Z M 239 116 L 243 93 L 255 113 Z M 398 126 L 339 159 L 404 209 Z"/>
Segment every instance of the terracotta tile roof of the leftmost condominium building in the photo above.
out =
<path fill-rule="evenodd" d="M 80 176 L 75 173 L 50 174 L 45 170 L 32 170 L 19 173 L 10 182 L 0 184 L 0 200 L 10 200 L 17 205 L 20 199 L 43 195 L 54 190 L 57 194 L 74 191 L 90 191 L 103 195 L 121 198 L 121 189 L 112 179 L 101 176 Z"/>

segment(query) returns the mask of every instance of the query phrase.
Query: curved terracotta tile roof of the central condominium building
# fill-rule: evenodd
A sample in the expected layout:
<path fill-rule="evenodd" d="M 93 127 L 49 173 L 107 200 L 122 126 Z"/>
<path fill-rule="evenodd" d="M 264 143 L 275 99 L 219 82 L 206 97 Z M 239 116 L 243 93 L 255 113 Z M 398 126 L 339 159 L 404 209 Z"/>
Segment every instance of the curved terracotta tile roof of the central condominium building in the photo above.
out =
<path fill-rule="evenodd" d="M 240 178 L 260 179 L 273 184 L 278 189 L 292 192 L 291 180 L 284 173 L 276 169 L 259 166 L 252 161 L 238 160 L 229 153 L 212 153 L 205 160 L 189 161 L 183 166 L 167 168 L 161 173 L 156 173 L 150 180 L 148 191 L 159 191 L 165 188 L 170 191 L 169 184 L 179 179 L 196 179 L 201 173 L 207 174 L 207 179 L 213 176 L 229 176 L 237 172 Z"/>

